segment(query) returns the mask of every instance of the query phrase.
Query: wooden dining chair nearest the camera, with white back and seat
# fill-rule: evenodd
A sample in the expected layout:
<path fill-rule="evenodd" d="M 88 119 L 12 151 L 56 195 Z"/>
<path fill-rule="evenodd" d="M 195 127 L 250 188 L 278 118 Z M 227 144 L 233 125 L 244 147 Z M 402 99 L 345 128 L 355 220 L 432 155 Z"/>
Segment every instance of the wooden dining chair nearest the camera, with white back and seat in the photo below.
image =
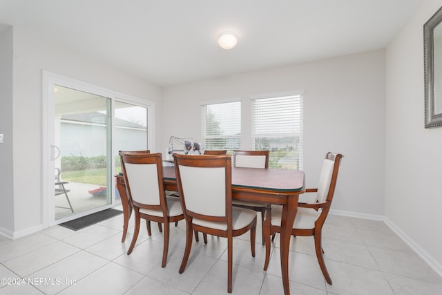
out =
<path fill-rule="evenodd" d="M 173 155 L 177 187 L 186 219 L 184 272 L 191 253 L 193 231 L 227 238 L 227 292 L 232 292 L 233 237 L 250 231 L 255 257 L 256 212 L 232 207 L 230 155 Z"/>

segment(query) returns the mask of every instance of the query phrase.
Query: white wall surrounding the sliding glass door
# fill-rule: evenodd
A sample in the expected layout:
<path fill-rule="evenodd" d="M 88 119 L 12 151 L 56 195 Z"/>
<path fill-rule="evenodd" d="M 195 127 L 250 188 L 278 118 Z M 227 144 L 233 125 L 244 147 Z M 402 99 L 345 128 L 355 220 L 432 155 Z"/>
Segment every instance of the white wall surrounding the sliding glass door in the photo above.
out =
<path fill-rule="evenodd" d="M 42 69 L 149 100 L 157 111 L 162 94 L 160 87 L 44 41 L 32 31 L 15 27 L 13 44 L 14 98 L 8 111 L 13 115 L 14 169 L 8 178 L 12 183 L 13 177 L 14 232 L 22 236 L 41 227 L 42 220 Z"/>

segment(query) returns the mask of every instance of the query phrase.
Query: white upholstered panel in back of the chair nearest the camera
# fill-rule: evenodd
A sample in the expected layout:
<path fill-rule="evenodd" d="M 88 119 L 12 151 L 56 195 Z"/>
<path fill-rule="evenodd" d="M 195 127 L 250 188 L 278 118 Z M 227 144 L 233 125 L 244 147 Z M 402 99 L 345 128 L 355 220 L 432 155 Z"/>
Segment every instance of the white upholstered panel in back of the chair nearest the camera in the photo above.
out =
<path fill-rule="evenodd" d="M 179 168 L 186 209 L 208 216 L 226 216 L 224 167 Z"/>

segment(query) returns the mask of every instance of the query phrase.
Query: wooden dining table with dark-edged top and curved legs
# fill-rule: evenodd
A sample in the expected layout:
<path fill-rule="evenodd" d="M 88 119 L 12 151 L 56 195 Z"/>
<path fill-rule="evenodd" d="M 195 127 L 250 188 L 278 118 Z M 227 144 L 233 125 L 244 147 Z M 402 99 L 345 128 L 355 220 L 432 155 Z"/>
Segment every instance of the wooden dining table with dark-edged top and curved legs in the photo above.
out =
<path fill-rule="evenodd" d="M 298 196 L 305 192 L 304 172 L 288 169 L 257 169 L 232 167 L 232 198 L 282 205 L 280 232 L 280 261 L 284 294 L 289 290 L 289 245 L 291 229 L 298 210 Z M 164 189 L 177 191 L 175 167 L 163 166 Z M 128 201 L 124 175 L 116 175 L 117 189 L 122 200 L 124 225 L 122 242 L 126 239 L 131 204 Z M 269 220 L 266 220 L 269 222 Z M 264 226 L 267 226 L 268 223 Z"/>

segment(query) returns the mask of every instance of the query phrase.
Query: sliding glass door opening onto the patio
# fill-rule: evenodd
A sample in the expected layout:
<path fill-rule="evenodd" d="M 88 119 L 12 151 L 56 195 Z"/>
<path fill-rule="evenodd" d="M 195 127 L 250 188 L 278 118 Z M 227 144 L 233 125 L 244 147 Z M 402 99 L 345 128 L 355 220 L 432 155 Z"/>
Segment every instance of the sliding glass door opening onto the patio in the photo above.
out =
<path fill-rule="evenodd" d="M 118 206 L 118 151 L 152 144 L 153 103 L 47 71 L 42 85 L 44 227 Z"/>

